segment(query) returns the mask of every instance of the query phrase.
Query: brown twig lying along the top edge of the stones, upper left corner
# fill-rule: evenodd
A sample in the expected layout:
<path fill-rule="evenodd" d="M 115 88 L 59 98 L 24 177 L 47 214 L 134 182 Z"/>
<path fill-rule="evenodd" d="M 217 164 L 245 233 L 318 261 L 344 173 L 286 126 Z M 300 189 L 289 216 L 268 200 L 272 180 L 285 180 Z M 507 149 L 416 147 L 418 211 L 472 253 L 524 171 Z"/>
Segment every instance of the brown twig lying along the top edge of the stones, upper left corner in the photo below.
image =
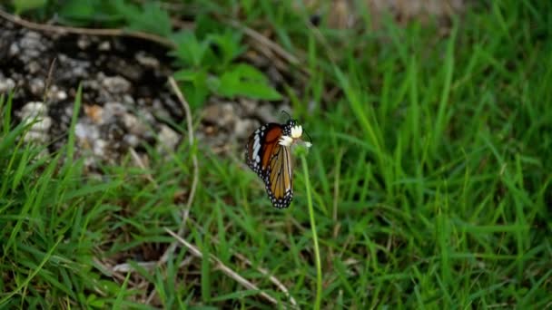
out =
<path fill-rule="evenodd" d="M 41 32 L 50 32 L 50 33 L 56 33 L 56 34 L 126 36 L 126 37 L 133 37 L 133 38 L 152 41 L 154 43 L 162 44 L 163 46 L 170 47 L 170 48 L 176 47 L 176 44 L 174 44 L 173 41 L 163 38 L 163 36 L 143 33 L 139 31 L 128 31 L 128 30 L 116 29 L 116 28 L 115 29 L 96 29 L 96 28 L 61 26 L 61 25 L 54 25 L 54 24 L 37 24 L 34 22 L 27 21 L 19 16 L 11 15 L 2 10 L 0 10 L 0 17 L 14 24 L 19 24 L 25 28 L 34 29 Z"/>

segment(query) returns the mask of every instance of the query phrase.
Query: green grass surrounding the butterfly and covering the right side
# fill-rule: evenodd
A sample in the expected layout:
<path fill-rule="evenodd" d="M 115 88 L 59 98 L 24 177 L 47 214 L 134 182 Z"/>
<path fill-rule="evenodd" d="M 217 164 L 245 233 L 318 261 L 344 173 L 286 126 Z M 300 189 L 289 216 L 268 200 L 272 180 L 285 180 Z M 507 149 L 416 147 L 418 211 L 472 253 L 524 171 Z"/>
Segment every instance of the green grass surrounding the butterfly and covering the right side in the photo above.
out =
<path fill-rule="evenodd" d="M 162 266 L 139 264 L 173 242 L 164 228 L 179 228 L 192 152 L 200 183 L 184 237 L 282 306 L 287 295 L 259 267 L 301 308 L 315 305 L 319 275 L 322 308 L 552 305 L 552 4 L 476 6 L 446 34 L 322 25 L 325 43 L 289 5 L 244 10 L 311 72 L 303 93 L 290 91 L 313 139 L 291 208 L 271 208 L 241 154 L 201 142 L 169 158 L 148 149 L 147 170 L 129 158 L 88 178 L 74 140 L 44 156 L 18 139 L 28 126 L 4 96 L 0 307 L 271 308 L 185 247 Z M 124 262 L 135 271 L 113 273 Z"/>

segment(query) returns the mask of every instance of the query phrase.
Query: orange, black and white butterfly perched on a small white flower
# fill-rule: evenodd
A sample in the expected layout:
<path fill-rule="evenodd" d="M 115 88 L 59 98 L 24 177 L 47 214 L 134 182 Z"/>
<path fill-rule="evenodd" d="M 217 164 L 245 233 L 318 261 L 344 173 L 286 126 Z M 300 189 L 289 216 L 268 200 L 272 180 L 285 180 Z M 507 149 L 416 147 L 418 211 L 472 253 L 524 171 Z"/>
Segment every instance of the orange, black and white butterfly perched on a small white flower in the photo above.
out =
<path fill-rule="evenodd" d="M 291 145 L 301 139 L 303 129 L 297 121 L 269 122 L 254 131 L 245 146 L 245 160 L 261 177 L 275 208 L 290 207 L 293 199 Z M 307 146 L 311 146 L 307 142 Z"/>

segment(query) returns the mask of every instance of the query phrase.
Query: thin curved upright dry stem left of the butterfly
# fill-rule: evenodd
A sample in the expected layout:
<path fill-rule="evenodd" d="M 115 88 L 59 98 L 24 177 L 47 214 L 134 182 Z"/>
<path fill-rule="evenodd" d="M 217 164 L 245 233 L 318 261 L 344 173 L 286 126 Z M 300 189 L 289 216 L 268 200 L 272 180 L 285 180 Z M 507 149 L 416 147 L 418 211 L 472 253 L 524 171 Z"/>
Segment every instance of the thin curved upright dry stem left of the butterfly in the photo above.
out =
<path fill-rule="evenodd" d="M 173 92 L 178 97 L 178 100 L 180 100 L 180 102 L 182 103 L 182 107 L 186 112 L 186 123 L 188 126 L 188 142 L 190 143 L 190 147 L 192 148 L 193 147 L 193 124 L 192 124 L 192 111 L 190 109 L 190 104 L 188 104 L 188 102 L 184 98 L 184 95 L 180 91 L 178 84 L 176 84 L 176 81 L 174 81 L 174 78 L 172 76 L 169 77 L 169 83 L 171 84 L 171 87 L 173 88 Z M 195 190 L 197 188 L 197 182 L 198 182 L 198 176 L 199 176 L 199 163 L 197 160 L 197 154 L 193 150 L 191 153 L 192 153 L 192 165 L 193 165 L 192 189 L 190 189 L 190 195 L 188 195 L 188 201 L 186 202 L 186 207 L 182 210 L 182 221 L 180 223 L 180 228 L 178 228 L 178 236 L 182 236 L 182 234 L 184 233 L 184 229 L 186 228 L 186 221 L 190 216 L 190 208 L 192 208 L 193 197 L 195 196 Z M 159 260 L 160 264 L 165 263 L 169 259 L 169 255 L 173 253 L 175 248 L 176 248 L 176 242 L 173 242 L 173 244 L 171 244 L 171 246 L 167 248 L 167 250 L 163 254 L 163 257 L 161 257 L 161 259 Z"/>

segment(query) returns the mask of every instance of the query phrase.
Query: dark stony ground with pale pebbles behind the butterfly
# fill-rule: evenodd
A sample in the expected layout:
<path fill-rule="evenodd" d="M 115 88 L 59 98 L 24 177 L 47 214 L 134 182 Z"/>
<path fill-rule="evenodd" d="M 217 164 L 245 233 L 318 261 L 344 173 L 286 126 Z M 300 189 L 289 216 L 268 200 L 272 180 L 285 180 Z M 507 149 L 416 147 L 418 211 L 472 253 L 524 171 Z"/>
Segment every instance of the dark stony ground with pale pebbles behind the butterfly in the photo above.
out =
<path fill-rule="evenodd" d="M 146 157 L 147 144 L 167 153 L 185 137 L 182 103 L 167 82 L 173 73 L 167 53 L 142 39 L 42 33 L 0 20 L 0 93 L 15 91 L 15 120 L 36 118 L 25 140 L 54 152 L 67 140 L 81 85 L 75 154 L 84 157 L 87 170 L 97 171 L 106 162 L 119 162 L 130 149 Z M 270 62 L 252 56 L 248 53 L 281 87 L 282 75 Z M 214 152 L 235 150 L 281 109 L 289 111 L 286 102 L 212 96 L 192 111 L 194 120 L 202 120 L 195 136 Z"/>

